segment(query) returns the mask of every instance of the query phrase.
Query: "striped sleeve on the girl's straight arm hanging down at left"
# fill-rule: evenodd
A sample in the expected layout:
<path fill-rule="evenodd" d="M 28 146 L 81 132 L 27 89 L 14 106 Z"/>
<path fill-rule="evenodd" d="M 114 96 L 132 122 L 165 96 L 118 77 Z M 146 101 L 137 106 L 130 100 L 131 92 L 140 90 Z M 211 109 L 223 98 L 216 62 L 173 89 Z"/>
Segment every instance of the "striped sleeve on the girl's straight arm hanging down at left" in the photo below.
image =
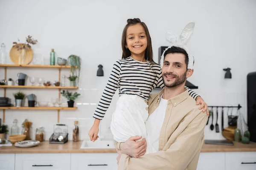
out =
<path fill-rule="evenodd" d="M 108 83 L 105 87 L 105 90 L 102 93 L 102 97 L 99 100 L 96 111 L 93 114 L 93 118 L 102 120 L 105 116 L 106 111 L 108 110 L 111 100 L 119 86 L 119 77 L 121 72 L 121 64 L 119 61 L 116 61 L 113 65 Z"/>

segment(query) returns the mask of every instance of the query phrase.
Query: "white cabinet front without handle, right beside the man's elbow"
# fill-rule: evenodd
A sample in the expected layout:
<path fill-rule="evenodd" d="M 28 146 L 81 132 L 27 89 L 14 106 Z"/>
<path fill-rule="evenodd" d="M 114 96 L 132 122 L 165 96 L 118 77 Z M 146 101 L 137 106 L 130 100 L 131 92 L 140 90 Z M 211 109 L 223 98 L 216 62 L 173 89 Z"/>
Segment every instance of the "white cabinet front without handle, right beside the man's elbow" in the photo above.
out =
<path fill-rule="evenodd" d="M 200 153 L 197 170 L 225 170 L 225 153 Z"/>

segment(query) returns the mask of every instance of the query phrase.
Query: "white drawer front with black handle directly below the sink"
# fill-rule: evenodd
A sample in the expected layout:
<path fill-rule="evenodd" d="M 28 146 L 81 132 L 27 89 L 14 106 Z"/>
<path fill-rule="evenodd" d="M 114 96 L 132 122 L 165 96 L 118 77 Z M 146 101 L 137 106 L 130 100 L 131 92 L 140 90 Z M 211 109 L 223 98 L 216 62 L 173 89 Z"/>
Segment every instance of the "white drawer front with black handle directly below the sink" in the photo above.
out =
<path fill-rule="evenodd" d="M 117 153 L 72 153 L 71 170 L 117 170 Z"/>

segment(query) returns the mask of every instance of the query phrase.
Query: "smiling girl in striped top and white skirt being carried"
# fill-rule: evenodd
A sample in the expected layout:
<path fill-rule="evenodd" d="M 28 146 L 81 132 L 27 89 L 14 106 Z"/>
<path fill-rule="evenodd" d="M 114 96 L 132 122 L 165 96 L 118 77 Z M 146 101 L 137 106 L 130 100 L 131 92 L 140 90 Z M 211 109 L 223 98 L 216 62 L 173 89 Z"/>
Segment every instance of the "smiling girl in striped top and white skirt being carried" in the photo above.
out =
<path fill-rule="evenodd" d="M 89 131 L 91 141 L 99 136 L 99 122 L 103 119 L 116 90 L 119 99 L 112 116 L 111 131 L 116 142 L 125 142 L 131 136 L 142 136 L 147 141 L 146 153 L 156 152 L 147 138 L 145 121 L 148 119 L 148 97 L 151 91 L 163 88 L 160 65 L 153 61 L 151 37 L 145 23 L 140 19 L 128 19 L 122 33 L 122 59 L 113 65 L 106 88 L 93 115 L 94 124 Z M 186 87 L 187 88 L 187 87 Z M 204 100 L 189 90 L 189 95 L 202 104 L 207 110 Z M 199 108 L 199 109 L 201 109 Z"/>

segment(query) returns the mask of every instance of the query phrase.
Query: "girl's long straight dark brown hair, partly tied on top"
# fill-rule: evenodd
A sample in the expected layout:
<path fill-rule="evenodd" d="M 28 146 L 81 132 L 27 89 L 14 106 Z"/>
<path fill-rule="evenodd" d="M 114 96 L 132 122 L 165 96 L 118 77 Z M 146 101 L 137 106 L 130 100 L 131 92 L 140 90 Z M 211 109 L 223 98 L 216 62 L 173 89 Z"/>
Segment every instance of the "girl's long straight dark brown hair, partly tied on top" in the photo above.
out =
<path fill-rule="evenodd" d="M 143 26 L 146 36 L 147 36 L 147 48 L 145 51 L 145 59 L 148 60 L 151 63 L 154 63 L 153 60 L 153 50 L 152 50 L 152 43 L 151 43 L 151 37 L 148 31 L 148 27 L 146 26 L 145 23 L 141 22 L 139 18 L 134 18 L 134 19 L 128 19 L 127 20 L 127 24 L 122 32 L 122 59 L 125 59 L 127 57 L 131 56 L 131 51 L 129 50 L 129 48 L 125 48 L 126 45 L 126 31 L 128 29 L 129 26 L 133 26 L 134 24 L 139 23 L 141 26 Z"/>

